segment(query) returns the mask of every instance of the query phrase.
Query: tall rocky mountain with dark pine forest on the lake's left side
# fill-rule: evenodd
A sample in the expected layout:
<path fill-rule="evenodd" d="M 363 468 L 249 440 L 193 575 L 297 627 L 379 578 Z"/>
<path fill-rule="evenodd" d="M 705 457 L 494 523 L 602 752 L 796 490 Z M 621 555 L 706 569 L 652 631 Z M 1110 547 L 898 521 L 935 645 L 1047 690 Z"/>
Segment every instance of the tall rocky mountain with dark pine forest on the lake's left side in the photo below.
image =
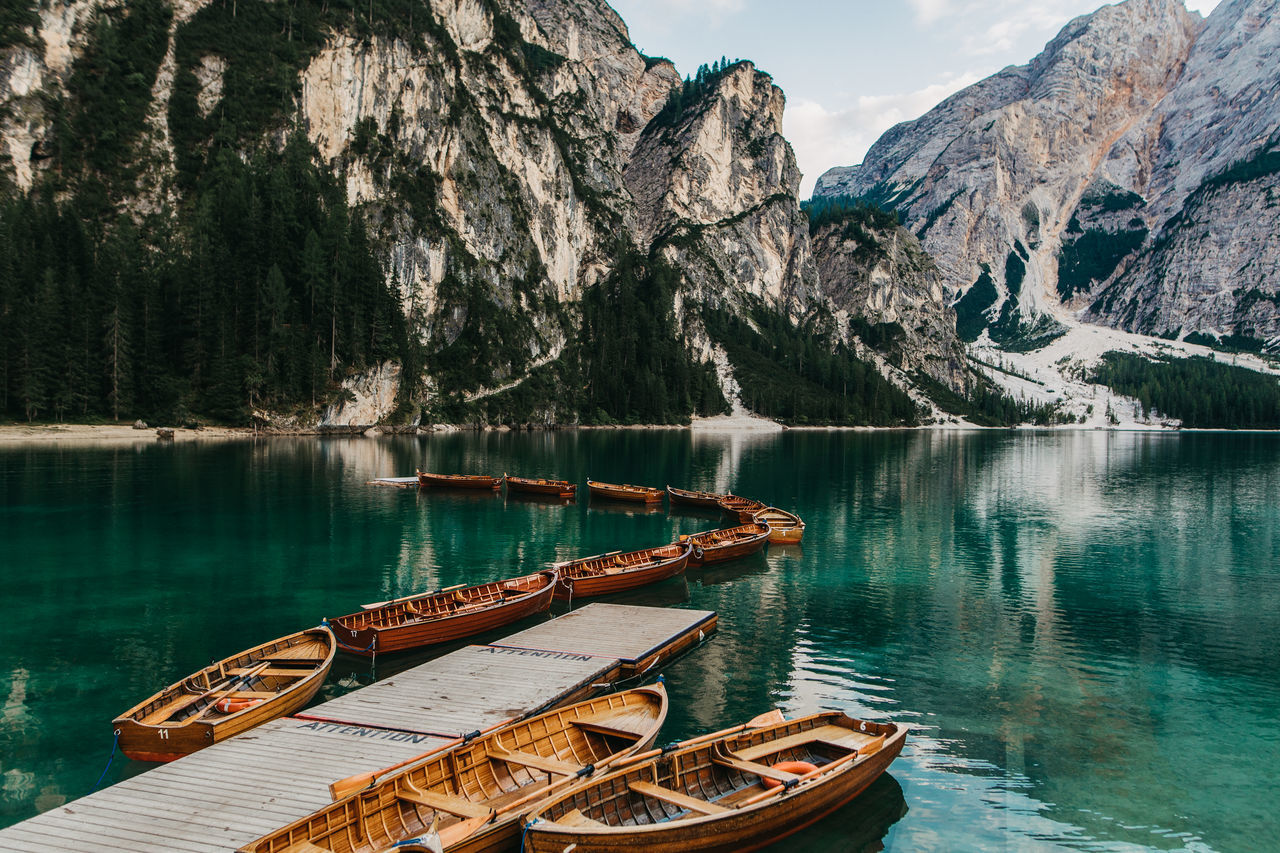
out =
<path fill-rule="evenodd" d="M 682 81 L 603 0 L 32 1 L 0 26 L 23 259 L 0 300 L 32 307 L 0 337 L 37 365 L 5 371 L 12 411 L 680 420 L 741 386 L 733 323 L 858 361 L 782 92 L 745 61 Z M 86 241 L 120 266 L 64 251 Z M 774 361 L 829 402 L 835 374 Z"/>

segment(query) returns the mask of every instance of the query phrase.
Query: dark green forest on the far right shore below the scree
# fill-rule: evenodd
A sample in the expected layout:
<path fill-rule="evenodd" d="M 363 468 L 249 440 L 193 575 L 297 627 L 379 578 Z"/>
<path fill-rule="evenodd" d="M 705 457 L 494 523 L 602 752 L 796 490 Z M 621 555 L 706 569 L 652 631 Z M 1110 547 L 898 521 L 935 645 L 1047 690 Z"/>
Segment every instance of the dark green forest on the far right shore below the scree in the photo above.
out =
<path fill-rule="evenodd" d="M 1107 352 L 1091 380 L 1135 397 L 1144 416 L 1178 418 L 1183 426 L 1280 429 L 1280 380 L 1212 359 Z"/>

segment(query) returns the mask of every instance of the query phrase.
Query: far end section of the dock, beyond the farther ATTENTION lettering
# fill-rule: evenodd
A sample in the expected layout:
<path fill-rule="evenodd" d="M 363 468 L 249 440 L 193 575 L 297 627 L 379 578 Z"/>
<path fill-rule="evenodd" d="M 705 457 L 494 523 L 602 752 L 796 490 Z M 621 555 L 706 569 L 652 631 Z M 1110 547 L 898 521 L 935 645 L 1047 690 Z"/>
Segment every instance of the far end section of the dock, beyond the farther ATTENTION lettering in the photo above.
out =
<path fill-rule="evenodd" d="M 622 675 L 669 660 L 716 630 L 716 611 L 594 603 L 494 646 L 616 657 Z"/>

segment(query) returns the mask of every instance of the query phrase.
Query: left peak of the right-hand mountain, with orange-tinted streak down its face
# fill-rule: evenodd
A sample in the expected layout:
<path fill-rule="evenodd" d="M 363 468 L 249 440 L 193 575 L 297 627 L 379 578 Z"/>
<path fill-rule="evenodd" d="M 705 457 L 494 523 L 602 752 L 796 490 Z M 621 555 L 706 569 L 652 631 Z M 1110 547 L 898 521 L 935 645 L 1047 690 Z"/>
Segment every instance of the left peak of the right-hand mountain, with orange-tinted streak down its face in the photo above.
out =
<path fill-rule="evenodd" d="M 1115 141 L 1146 122 L 1176 81 L 1199 22 L 1179 0 L 1128 0 L 1069 23 L 1030 64 L 1009 68 L 882 137 L 818 195 L 897 207 L 954 295 L 984 274 L 995 320 L 1056 302 L 1062 232 Z M 1019 261 L 1009 259 L 1025 255 Z M 1009 280 L 1006 264 L 1021 266 Z"/>

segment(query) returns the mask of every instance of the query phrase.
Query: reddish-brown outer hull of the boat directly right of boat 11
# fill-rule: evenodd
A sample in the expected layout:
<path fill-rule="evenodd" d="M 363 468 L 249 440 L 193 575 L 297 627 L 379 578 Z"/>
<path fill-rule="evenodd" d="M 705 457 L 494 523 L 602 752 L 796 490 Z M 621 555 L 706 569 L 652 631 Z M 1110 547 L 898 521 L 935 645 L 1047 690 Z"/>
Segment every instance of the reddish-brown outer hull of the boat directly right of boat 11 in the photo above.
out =
<path fill-rule="evenodd" d="M 544 583 L 538 589 L 530 590 L 518 598 L 500 601 L 490 607 L 462 612 L 456 616 L 442 616 L 404 621 L 393 626 L 378 626 L 379 610 L 362 610 L 358 613 L 348 613 L 330 620 L 334 635 L 343 651 L 352 654 L 371 657 L 374 654 L 387 654 L 390 652 L 403 652 L 407 649 L 448 643 L 462 639 L 472 634 L 502 628 L 511 622 L 520 621 L 534 613 L 541 613 L 550 608 L 552 596 L 556 592 L 556 573 L 539 573 Z M 530 575 L 532 578 L 532 575 Z M 522 580 L 522 579 L 515 579 Z M 511 581 L 499 581 L 511 583 Z M 481 587 L 488 587 L 483 584 Z M 471 589 L 479 589 L 476 587 Z M 460 592 L 465 597 L 465 592 Z M 440 593 L 420 596 L 397 601 L 388 607 L 403 607 L 406 603 L 421 602 L 426 598 L 439 597 Z"/>

